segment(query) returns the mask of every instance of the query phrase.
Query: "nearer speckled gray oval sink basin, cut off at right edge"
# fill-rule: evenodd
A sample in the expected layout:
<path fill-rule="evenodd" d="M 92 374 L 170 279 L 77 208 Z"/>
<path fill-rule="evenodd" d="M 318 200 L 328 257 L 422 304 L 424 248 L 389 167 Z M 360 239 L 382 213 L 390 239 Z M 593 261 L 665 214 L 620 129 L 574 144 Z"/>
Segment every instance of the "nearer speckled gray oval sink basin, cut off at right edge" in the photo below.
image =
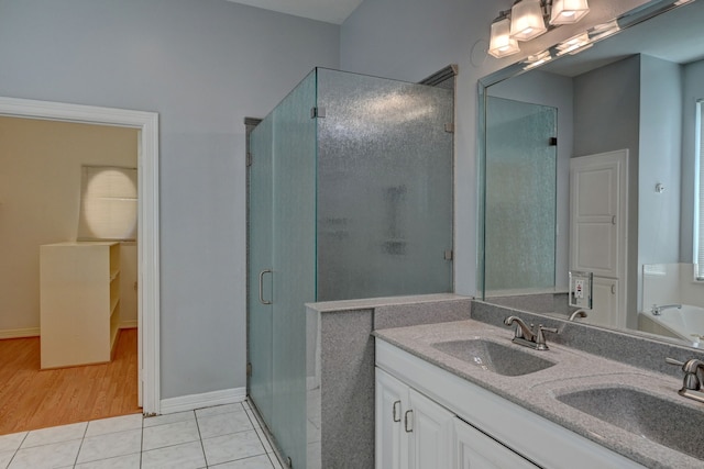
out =
<path fill-rule="evenodd" d="M 557 399 L 627 432 L 704 459 L 702 411 L 618 387 L 575 391 Z"/>

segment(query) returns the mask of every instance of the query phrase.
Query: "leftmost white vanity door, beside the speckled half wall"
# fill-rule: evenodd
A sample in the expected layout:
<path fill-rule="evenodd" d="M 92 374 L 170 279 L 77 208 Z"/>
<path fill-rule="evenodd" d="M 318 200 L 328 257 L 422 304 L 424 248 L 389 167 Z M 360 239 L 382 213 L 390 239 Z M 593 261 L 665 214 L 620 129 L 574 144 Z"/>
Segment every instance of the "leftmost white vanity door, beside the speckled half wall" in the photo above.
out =
<path fill-rule="evenodd" d="M 404 414 L 408 411 L 408 387 L 376 368 L 376 469 L 408 467 L 408 437 Z"/>

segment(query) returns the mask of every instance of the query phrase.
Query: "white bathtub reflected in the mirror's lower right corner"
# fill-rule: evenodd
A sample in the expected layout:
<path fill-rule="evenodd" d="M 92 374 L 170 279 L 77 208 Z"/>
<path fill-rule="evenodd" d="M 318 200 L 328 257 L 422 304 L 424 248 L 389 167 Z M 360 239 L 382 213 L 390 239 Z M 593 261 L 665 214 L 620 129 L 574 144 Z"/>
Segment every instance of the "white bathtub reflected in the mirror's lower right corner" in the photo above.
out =
<path fill-rule="evenodd" d="M 679 338 L 695 347 L 704 347 L 704 308 L 683 304 L 670 308 L 659 316 L 650 311 L 638 314 L 638 328 L 652 334 Z"/>

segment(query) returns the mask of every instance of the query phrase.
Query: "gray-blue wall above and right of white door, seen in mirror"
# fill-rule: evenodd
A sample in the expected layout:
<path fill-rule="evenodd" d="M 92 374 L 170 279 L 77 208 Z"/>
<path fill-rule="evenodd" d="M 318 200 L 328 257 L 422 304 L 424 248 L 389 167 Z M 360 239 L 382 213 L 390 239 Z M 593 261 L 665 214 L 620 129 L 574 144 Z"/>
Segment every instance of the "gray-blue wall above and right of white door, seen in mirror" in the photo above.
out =
<path fill-rule="evenodd" d="M 647 55 L 575 78 L 575 155 L 629 149 L 630 321 L 642 265 L 679 261 L 681 96 L 680 66 Z M 657 193 L 658 182 L 669 190 Z"/>

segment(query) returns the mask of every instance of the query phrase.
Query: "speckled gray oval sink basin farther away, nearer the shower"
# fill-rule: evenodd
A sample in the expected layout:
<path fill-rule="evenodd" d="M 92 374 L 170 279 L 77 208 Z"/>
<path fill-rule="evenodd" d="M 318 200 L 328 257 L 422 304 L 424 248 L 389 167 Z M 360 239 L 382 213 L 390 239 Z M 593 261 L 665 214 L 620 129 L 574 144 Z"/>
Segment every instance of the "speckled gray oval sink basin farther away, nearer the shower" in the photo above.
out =
<path fill-rule="evenodd" d="M 443 354 L 503 376 L 528 375 L 554 365 L 550 360 L 526 353 L 516 346 L 502 345 L 481 338 L 439 342 L 431 346 Z"/>

